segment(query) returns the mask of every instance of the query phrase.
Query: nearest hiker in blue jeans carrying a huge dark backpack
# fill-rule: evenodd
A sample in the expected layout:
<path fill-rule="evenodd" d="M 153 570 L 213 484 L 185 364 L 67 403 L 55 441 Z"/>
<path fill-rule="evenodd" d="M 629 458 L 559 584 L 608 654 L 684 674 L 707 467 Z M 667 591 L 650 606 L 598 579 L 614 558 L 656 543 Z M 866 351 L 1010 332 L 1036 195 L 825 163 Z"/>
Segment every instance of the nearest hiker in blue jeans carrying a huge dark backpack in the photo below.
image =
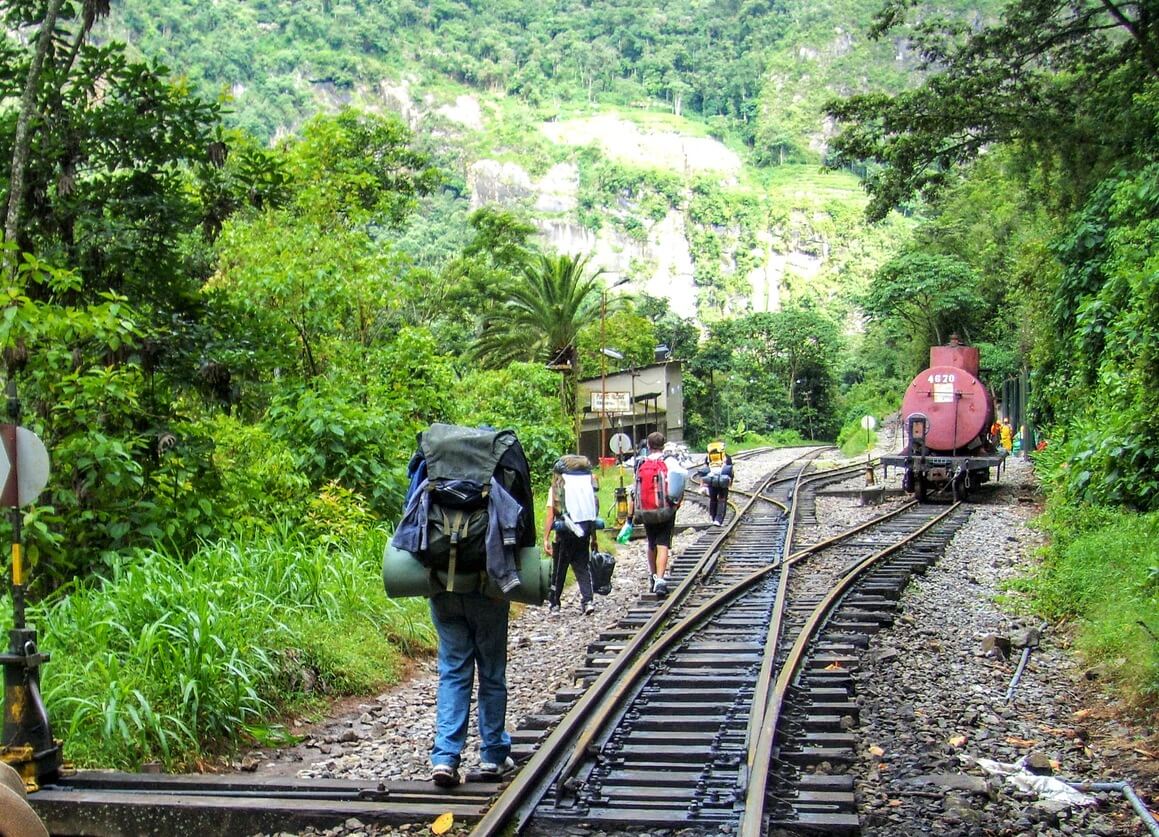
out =
<path fill-rule="evenodd" d="M 418 436 L 408 476 L 406 512 L 392 545 L 430 569 L 435 590 L 438 694 L 431 778 L 439 787 L 462 780 L 478 672 L 479 774 L 496 780 L 515 769 L 506 732 L 511 603 L 503 594 L 520 584 L 518 551 L 535 545 L 527 459 L 510 430 L 432 424 Z"/>

